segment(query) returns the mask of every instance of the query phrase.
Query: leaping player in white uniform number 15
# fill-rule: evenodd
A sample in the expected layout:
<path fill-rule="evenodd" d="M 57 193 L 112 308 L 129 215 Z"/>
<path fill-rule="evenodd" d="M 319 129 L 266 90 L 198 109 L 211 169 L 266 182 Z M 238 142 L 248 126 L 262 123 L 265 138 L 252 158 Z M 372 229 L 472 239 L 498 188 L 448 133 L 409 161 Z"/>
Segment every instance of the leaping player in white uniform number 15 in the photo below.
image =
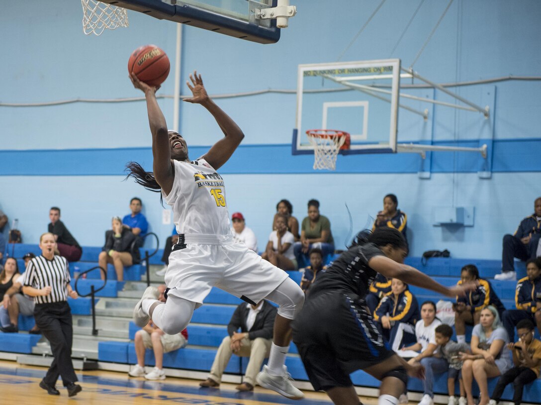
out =
<path fill-rule="evenodd" d="M 279 305 L 268 365 L 258 375 L 260 386 L 289 399 L 304 394 L 293 387 L 285 357 L 291 341 L 291 321 L 302 308 L 304 293 L 287 273 L 262 260 L 244 244 L 234 243 L 229 226 L 226 190 L 216 173 L 244 138 L 236 123 L 210 99 L 201 75 L 190 75 L 193 97 L 184 101 L 201 104 L 220 126 L 222 139 L 201 158 L 190 161 L 188 146 L 179 133 L 168 130 L 156 101 L 156 90 L 130 76 L 135 88 L 144 92 L 152 134 L 153 170 L 130 162 L 129 175 L 149 190 L 161 191 L 173 207 L 179 241 L 169 257 L 165 281 L 166 303 L 157 301 L 157 289 L 148 287 L 134 309 L 134 321 L 144 326 L 152 318 L 167 334 L 177 334 L 190 322 L 213 286 L 232 293 L 250 304 L 263 298 Z"/>

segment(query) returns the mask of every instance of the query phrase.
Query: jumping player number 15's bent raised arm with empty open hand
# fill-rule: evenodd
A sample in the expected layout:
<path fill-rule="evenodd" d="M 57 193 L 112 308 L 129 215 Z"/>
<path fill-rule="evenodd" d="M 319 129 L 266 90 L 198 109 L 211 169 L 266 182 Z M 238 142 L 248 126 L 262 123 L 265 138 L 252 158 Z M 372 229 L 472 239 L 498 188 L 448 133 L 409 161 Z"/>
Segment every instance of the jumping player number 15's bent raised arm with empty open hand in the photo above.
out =
<path fill-rule="evenodd" d="M 201 75 L 197 75 L 197 71 L 194 71 L 193 75 L 190 74 L 189 81 L 186 82 L 190 90 L 192 90 L 193 97 L 184 99 L 189 103 L 201 104 L 208 110 L 210 114 L 216 120 L 216 123 L 220 126 L 225 135 L 224 138 L 217 141 L 212 148 L 203 156 L 204 159 L 209 162 L 210 166 L 215 169 L 220 168 L 231 157 L 237 146 L 244 138 L 242 130 L 236 125 L 235 121 L 231 119 L 223 110 L 210 99 L 207 94 L 207 90 L 203 86 L 203 80 Z"/>

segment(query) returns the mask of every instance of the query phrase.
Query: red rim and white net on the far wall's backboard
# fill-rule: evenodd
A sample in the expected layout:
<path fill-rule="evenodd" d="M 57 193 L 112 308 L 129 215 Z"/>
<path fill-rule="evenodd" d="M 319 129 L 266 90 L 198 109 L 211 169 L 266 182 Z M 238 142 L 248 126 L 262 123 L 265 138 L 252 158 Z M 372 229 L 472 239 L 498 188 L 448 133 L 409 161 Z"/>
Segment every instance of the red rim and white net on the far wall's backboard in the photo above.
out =
<path fill-rule="evenodd" d="M 314 169 L 336 168 L 340 149 L 349 149 L 349 134 L 335 129 L 309 129 L 308 140 L 314 147 Z"/>

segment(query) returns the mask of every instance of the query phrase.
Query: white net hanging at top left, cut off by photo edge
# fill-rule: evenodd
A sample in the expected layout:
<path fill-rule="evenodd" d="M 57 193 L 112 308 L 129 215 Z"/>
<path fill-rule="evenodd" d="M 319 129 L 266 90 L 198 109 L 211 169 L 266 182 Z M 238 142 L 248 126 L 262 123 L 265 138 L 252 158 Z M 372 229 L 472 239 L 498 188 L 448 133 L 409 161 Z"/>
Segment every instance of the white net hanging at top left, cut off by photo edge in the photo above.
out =
<path fill-rule="evenodd" d="M 128 27 L 126 9 L 95 0 L 81 0 L 83 5 L 83 32 L 101 35 L 103 30 Z"/>

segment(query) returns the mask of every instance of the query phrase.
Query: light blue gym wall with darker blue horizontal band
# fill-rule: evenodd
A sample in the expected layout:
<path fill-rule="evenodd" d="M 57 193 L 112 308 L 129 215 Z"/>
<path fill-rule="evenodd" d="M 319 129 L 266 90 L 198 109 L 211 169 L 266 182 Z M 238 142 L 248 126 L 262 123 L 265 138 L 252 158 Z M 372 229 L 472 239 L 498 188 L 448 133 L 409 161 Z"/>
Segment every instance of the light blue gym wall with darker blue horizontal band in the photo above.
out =
<path fill-rule="evenodd" d="M 183 27 L 182 82 L 197 69 L 211 95 L 266 89 L 296 89 L 300 63 L 334 62 L 379 2 L 292 1 L 298 15 L 272 45 L 237 40 Z M 397 50 L 391 54 L 419 1 L 387 1 L 341 61 L 399 57 L 410 66 L 447 6 L 424 2 Z M 171 62 L 176 25 L 128 11 L 130 27 L 101 36 L 82 32 L 78 2 L 10 2 L 0 13 L 4 57 L 0 64 L 0 209 L 19 219 L 24 241 L 36 242 L 52 205 L 82 245 L 103 244 L 113 215 L 128 212 L 129 199 L 143 199 L 151 230 L 163 240 L 159 194 L 123 182 L 128 160 L 151 168 L 150 135 L 143 101 L 127 77 L 131 50 L 154 43 Z M 538 76 L 541 66 L 541 2 L 455 0 L 414 69 L 439 83 Z M 159 91 L 164 115 L 173 120 L 174 75 Z M 183 95 L 189 94 L 185 85 Z M 246 134 L 223 167 L 230 212 L 241 211 L 263 249 L 275 204 L 288 198 L 302 220 L 306 201 L 317 198 L 331 219 L 337 247 L 353 229 L 364 227 L 381 209 L 386 193 L 398 195 L 408 214 L 412 254 L 444 249 L 454 257 L 500 257 L 504 233 L 513 232 L 541 195 L 541 81 L 504 81 L 459 87 L 476 103 L 495 92 L 492 121 L 479 114 L 435 107 L 433 140 L 477 146 L 494 135 L 493 173 L 480 179 L 483 159 L 474 154 L 434 153 L 430 179 L 420 179 L 418 154 L 339 156 L 337 173 L 314 172 L 312 155 L 292 156 L 294 93 L 226 97 L 217 103 Z M 494 94 L 494 93 L 492 93 Z M 447 100 L 436 93 L 436 97 Z M 67 102 L 53 106 L 8 104 Z M 483 104 L 484 105 L 484 104 Z M 220 138 L 220 129 L 200 106 L 181 104 L 181 133 L 192 158 Z M 403 120 L 406 120 L 404 112 Z M 399 141 L 426 140 L 426 130 L 399 126 Z M 489 126 L 487 128 L 487 126 Z M 434 207 L 474 206 L 473 227 L 434 227 Z"/>

